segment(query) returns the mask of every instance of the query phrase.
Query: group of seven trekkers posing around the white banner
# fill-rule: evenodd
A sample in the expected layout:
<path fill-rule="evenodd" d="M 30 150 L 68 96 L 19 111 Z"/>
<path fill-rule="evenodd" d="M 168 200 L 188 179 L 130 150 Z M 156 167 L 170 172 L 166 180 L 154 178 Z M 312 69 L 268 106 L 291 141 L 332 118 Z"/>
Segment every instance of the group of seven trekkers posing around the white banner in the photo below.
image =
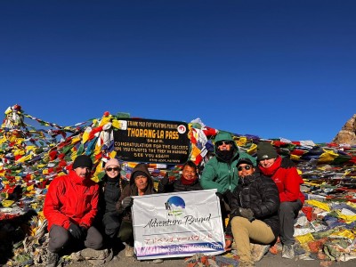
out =
<path fill-rule="evenodd" d="M 47 266 L 56 266 L 68 247 L 100 250 L 120 243 L 125 256 L 132 257 L 134 196 L 210 189 L 220 200 L 225 250 L 236 250 L 239 266 L 255 266 L 277 239 L 282 257 L 295 256 L 294 220 L 303 206 L 303 180 L 294 163 L 281 158 L 271 142 L 259 142 L 254 158 L 239 151 L 230 133 L 220 132 L 214 139 L 214 156 L 200 174 L 189 160 L 180 179 L 172 181 L 166 175 L 158 190 L 144 163 L 134 167 L 129 181 L 121 177 L 117 158 L 106 162 L 99 183 L 90 179 L 92 168 L 92 159 L 80 155 L 69 174 L 49 186 L 44 200 L 50 238 Z"/>

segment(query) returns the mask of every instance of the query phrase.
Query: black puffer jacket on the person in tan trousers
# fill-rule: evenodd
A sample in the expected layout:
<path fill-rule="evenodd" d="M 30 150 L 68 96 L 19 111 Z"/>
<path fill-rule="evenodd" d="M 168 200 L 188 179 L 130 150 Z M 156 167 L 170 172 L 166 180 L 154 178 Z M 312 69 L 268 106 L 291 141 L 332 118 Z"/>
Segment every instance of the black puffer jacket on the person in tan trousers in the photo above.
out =
<path fill-rule="evenodd" d="M 235 207 L 251 208 L 255 219 L 268 224 L 275 237 L 279 236 L 279 191 L 270 177 L 255 173 L 240 178 L 232 196 L 231 211 Z M 231 220 L 226 233 L 232 235 Z"/>

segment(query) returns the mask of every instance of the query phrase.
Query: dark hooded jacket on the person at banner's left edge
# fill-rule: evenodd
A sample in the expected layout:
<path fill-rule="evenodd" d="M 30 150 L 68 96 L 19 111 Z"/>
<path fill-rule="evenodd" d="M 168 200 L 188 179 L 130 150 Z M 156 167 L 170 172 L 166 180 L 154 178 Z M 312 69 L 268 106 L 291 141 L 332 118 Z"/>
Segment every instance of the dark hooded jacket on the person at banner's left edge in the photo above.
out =
<path fill-rule="evenodd" d="M 137 186 L 134 183 L 134 179 L 133 179 L 134 173 L 139 172 L 139 171 L 144 172 L 149 177 L 151 177 L 149 169 L 147 168 L 147 166 L 145 164 L 141 163 L 134 167 L 133 173 L 131 174 L 131 177 L 130 177 L 130 184 L 125 186 L 124 190 L 122 191 L 121 197 L 117 201 L 117 212 L 118 212 L 118 214 L 121 214 L 124 221 L 132 221 L 133 219 L 132 219 L 132 215 L 131 215 L 131 207 L 123 208 L 123 206 L 121 205 L 121 202 L 126 197 L 132 197 L 132 196 L 139 195 L 139 190 L 137 189 Z M 144 191 L 143 195 L 150 195 L 150 194 L 155 194 L 155 193 L 156 193 L 156 190 L 153 187 L 153 180 L 152 180 L 152 178 L 150 178 L 150 179 L 148 179 L 148 185 L 147 185 L 147 188 Z"/>

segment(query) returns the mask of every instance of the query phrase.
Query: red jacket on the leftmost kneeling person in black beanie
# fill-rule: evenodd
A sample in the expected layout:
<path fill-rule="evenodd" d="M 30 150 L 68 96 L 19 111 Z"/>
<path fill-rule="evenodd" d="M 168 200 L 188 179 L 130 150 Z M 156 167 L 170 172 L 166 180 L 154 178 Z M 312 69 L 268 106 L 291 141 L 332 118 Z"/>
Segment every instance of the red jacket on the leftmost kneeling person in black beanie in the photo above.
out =
<path fill-rule="evenodd" d="M 99 185 L 83 179 L 75 171 L 51 182 L 44 199 L 44 216 L 48 231 L 53 224 L 69 228 L 70 223 L 90 227 L 97 213 Z"/>

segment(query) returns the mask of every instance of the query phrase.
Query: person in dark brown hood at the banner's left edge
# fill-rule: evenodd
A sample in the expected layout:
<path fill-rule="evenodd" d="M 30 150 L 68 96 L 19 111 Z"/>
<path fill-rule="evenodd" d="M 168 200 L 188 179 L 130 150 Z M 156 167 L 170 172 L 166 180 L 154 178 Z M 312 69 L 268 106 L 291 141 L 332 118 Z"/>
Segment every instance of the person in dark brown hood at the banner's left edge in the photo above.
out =
<path fill-rule="evenodd" d="M 122 216 L 118 237 L 125 243 L 125 256 L 134 256 L 134 225 L 131 207 L 134 205 L 132 196 L 155 194 L 153 180 L 146 164 L 136 165 L 130 176 L 130 183 L 125 186 L 121 197 L 117 201 L 117 212 Z"/>

